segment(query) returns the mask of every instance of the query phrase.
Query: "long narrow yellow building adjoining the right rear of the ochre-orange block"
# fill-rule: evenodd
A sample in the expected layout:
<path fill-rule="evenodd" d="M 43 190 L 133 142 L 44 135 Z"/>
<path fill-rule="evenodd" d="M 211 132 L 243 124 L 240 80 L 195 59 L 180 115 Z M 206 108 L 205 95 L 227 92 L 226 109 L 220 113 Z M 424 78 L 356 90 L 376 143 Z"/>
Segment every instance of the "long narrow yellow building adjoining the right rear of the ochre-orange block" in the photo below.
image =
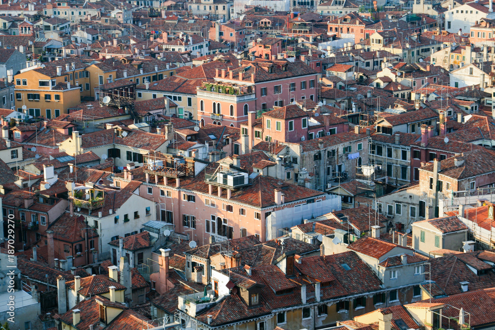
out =
<path fill-rule="evenodd" d="M 176 66 L 155 58 L 107 59 L 86 68 L 90 76 L 90 96 L 99 99 L 99 86 L 109 81 L 126 79 L 137 85 L 162 80 L 175 75 Z"/>

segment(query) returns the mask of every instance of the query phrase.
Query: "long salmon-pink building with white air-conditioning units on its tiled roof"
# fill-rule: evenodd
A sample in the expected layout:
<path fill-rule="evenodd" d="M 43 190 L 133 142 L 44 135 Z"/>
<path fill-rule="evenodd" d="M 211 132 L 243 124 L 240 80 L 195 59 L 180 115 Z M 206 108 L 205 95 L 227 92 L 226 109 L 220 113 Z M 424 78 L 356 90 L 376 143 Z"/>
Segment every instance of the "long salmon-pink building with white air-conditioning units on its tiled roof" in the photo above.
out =
<path fill-rule="evenodd" d="M 184 159 L 184 158 L 183 158 Z M 268 160 L 263 152 L 233 157 L 233 164 L 207 167 L 192 158 L 153 156 L 144 167 L 125 170 L 114 177 L 117 187 L 133 180 L 143 182 L 138 194 L 157 203 L 160 220 L 176 233 L 188 235 L 198 245 L 254 235 L 264 242 L 272 212 L 323 202 L 325 194 L 255 175 L 252 164 Z M 196 173 L 196 174 L 195 174 Z M 301 210 L 301 208 L 298 208 Z"/>

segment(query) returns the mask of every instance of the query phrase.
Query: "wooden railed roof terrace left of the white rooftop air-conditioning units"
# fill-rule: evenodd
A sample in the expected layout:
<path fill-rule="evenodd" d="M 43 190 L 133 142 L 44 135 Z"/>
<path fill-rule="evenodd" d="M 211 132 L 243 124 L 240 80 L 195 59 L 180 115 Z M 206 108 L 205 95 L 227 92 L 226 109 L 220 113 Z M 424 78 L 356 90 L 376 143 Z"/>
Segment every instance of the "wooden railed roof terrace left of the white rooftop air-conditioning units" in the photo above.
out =
<path fill-rule="evenodd" d="M 143 170 L 145 173 L 168 178 L 194 177 L 194 160 L 173 155 L 145 157 Z"/>

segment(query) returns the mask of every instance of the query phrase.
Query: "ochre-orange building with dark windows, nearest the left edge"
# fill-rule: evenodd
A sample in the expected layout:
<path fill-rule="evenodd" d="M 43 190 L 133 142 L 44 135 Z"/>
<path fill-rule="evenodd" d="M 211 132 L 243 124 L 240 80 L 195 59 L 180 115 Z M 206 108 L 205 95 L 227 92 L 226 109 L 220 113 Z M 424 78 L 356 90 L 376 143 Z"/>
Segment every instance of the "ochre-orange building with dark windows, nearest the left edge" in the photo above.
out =
<path fill-rule="evenodd" d="M 37 65 L 15 76 L 17 111 L 26 106 L 34 117 L 56 118 L 89 96 L 88 65 L 76 60 L 59 60 Z"/>

